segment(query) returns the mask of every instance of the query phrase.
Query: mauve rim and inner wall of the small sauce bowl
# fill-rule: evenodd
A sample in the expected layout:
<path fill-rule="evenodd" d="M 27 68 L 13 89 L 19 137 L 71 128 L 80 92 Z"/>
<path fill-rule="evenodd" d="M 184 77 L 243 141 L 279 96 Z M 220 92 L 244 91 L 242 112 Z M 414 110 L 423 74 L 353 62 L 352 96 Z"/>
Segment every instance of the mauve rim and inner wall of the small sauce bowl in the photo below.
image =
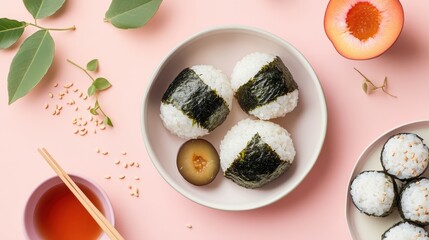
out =
<path fill-rule="evenodd" d="M 115 226 L 115 212 L 113 210 L 113 206 L 112 206 L 112 202 L 109 199 L 109 196 L 106 194 L 106 192 L 104 191 L 104 189 L 95 181 L 93 181 L 90 178 L 86 178 L 83 177 L 82 175 L 78 175 L 78 174 L 69 174 L 69 176 L 73 179 L 73 181 L 75 181 L 76 183 L 80 183 L 83 184 L 85 186 L 92 185 L 92 186 L 87 186 L 89 188 L 94 188 L 96 191 L 98 191 L 98 193 L 101 195 L 102 199 L 99 199 L 101 202 L 101 205 L 103 206 L 103 208 L 105 208 L 105 217 L 110 221 L 110 223 Z M 43 195 L 47 190 L 49 190 L 50 188 L 57 186 L 58 184 L 62 184 L 63 182 L 61 181 L 60 177 L 57 175 L 51 176 L 45 180 L 43 180 L 42 182 L 40 182 L 34 189 L 33 191 L 28 195 L 25 206 L 24 206 L 24 211 L 22 214 L 22 221 L 23 221 L 23 229 L 24 229 L 24 235 L 26 237 L 26 239 L 32 239 L 33 236 L 29 235 L 29 231 L 28 229 L 31 228 L 29 226 L 27 226 L 27 214 L 29 210 L 29 207 L 31 207 L 29 204 L 31 203 L 30 200 L 34 197 L 34 195 L 36 193 L 38 193 L 39 191 L 41 191 L 41 189 L 44 188 L 44 186 L 46 184 L 49 184 L 50 187 L 48 189 L 46 189 L 43 193 L 41 193 L 41 195 Z M 98 195 L 98 193 L 96 193 Z M 36 204 L 36 203 L 31 203 L 31 204 Z M 104 239 L 109 239 L 107 234 L 103 231 L 101 231 L 101 235 L 98 237 L 99 240 L 104 240 Z"/>

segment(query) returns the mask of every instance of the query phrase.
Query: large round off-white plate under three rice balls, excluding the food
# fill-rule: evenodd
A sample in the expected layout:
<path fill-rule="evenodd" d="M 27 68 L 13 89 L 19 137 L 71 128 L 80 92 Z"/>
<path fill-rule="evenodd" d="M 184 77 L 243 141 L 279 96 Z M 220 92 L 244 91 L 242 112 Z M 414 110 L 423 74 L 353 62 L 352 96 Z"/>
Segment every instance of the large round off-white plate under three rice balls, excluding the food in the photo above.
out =
<path fill-rule="evenodd" d="M 291 71 L 300 90 L 297 108 L 274 122 L 285 127 L 297 151 L 292 167 L 281 177 L 259 189 L 242 188 L 223 177 L 220 171 L 209 185 L 197 187 L 186 182 L 176 167 L 176 155 L 185 142 L 166 130 L 160 120 L 161 97 L 177 74 L 197 64 L 214 65 L 231 75 L 236 62 L 252 52 L 278 55 Z M 293 46 L 270 33 L 242 26 L 209 29 L 191 36 L 174 48 L 149 80 L 144 99 L 142 132 L 149 156 L 160 175 L 185 197 L 207 207 L 248 210 L 268 205 L 292 191 L 316 162 L 327 125 L 326 103 L 312 67 Z M 226 121 L 204 139 L 217 150 L 226 132 L 248 116 L 234 100 Z"/>

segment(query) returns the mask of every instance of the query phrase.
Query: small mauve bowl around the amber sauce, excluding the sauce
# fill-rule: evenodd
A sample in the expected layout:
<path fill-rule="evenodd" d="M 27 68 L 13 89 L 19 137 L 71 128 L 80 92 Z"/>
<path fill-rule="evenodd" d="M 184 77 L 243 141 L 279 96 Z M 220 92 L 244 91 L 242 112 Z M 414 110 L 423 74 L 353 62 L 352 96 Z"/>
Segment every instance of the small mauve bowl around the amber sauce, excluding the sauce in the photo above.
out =
<path fill-rule="evenodd" d="M 100 204 L 102 209 L 100 209 L 101 212 L 104 213 L 104 216 L 106 219 L 112 223 L 112 225 L 115 225 L 115 216 L 113 212 L 113 207 L 110 203 L 110 200 L 107 196 L 107 194 L 103 191 L 103 189 L 96 184 L 95 182 L 88 180 L 83 177 L 79 177 L 77 175 L 70 175 L 70 177 L 73 179 L 74 182 L 79 183 L 87 187 L 94 195 L 97 197 L 98 200 L 100 200 Z M 37 233 L 37 230 L 35 228 L 34 223 L 34 211 L 36 209 L 37 203 L 39 202 L 40 198 L 43 196 L 44 193 L 46 193 L 49 189 L 52 187 L 58 186 L 58 184 L 64 184 L 62 180 L 55 176 L 52 178 L 47 179 L 46 181 L 42 182 L 30 195 L 30 198 L 27 201 L 27 204 L 25 206 L 24 210 L 24 229 L 25 229 L 25 235 L 27 239 L 31 240 L 41 240 L 42 238 Z M 99 240 L 109 240 L 109 237 L 102 232 Z"/>

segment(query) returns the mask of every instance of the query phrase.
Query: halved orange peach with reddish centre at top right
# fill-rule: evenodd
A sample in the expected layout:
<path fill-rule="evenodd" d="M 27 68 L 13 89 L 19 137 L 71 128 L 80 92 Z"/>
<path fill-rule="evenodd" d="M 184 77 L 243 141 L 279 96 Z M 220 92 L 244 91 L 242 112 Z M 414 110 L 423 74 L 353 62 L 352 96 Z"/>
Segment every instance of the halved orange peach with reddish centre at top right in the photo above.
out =
<path fill-rule="evenodd" d="M 370 59 L 395 43 L 404 25 L 404 10 L 399 0 L 331 0 L 324 25 L 342 56 Z"/>

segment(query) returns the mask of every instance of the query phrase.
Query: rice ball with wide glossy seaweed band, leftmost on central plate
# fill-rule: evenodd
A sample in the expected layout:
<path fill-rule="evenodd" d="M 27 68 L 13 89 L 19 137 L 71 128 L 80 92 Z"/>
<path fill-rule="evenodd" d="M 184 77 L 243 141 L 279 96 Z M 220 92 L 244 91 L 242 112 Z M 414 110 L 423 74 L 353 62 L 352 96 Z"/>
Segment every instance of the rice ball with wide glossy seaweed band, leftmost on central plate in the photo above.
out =
<path fill-rule="evenodd" d="M 232 98 L 227 76 L 214 66 L 186 68 L 162 96 L 161 120 L 171 133 L 181 138 L 198 138 L 225 121 Z"/>

